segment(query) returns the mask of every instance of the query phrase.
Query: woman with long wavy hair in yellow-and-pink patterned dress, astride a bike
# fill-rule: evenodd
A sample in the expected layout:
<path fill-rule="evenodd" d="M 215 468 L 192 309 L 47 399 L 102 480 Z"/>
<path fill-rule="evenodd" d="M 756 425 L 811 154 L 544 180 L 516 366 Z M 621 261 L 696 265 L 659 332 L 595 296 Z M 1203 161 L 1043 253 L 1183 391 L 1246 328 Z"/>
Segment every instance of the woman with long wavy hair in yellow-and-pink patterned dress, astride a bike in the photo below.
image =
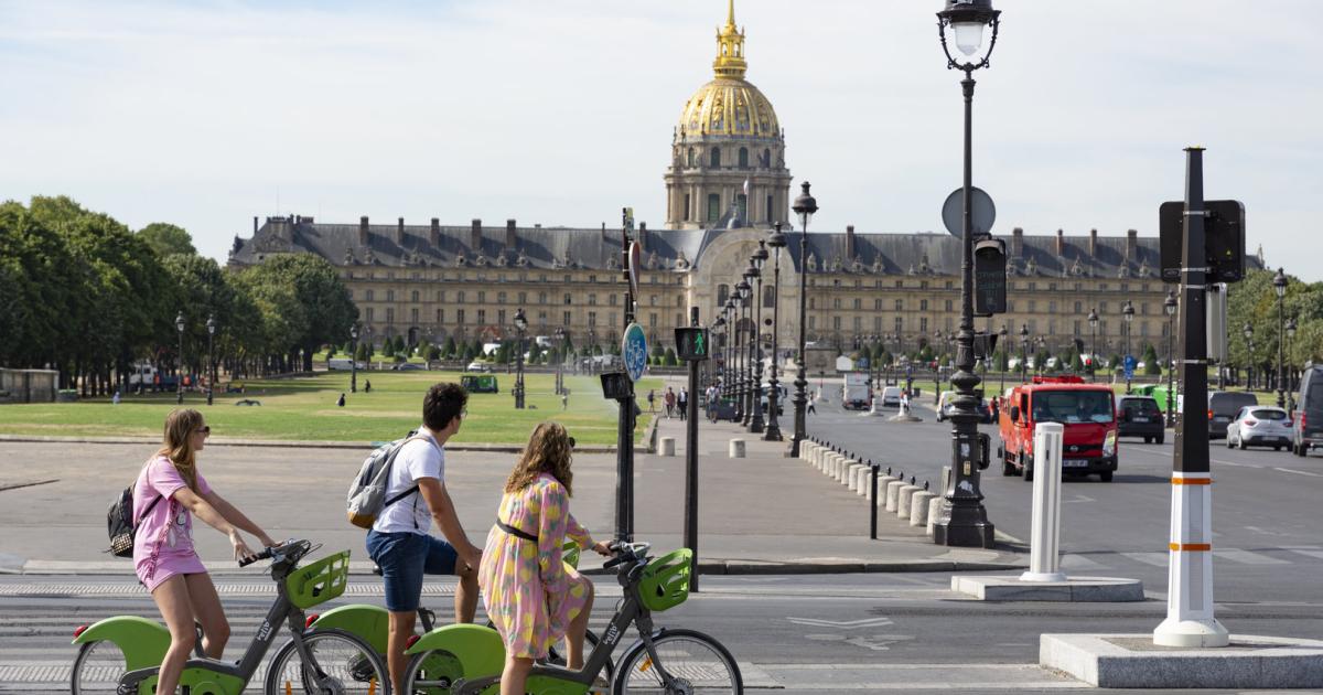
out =
<path fill-rule="evenodd" d="M 487 616 L 505 641 L 501 695 L 523 695 L 533 661 L 545 659 L 561 638 L 568 638 L 566 666 L 583 667 L 593 582 L 561 560 L 561 545 L 569 537 L 601 555 L 610 551 L 570 514 L 572 485 L 569 434 L 542 422 L 505 481 L 478 568 Z"/>

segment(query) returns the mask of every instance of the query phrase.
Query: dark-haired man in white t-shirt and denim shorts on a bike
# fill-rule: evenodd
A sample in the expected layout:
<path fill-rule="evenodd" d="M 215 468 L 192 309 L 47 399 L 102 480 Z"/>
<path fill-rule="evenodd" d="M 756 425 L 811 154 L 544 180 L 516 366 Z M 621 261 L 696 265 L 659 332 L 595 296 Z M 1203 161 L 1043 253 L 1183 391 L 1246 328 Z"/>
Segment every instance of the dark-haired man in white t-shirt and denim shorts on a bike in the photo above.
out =
<path fill-rule="evenodd" d="M 446 491 L 446 442 L 459 432 L 468 393 L 459 384 L 435 384 L 422 401 L 422 426 L 401 446 L 386 483 L 386 504 L 368 532 L 368 556 L 381 568 L 389 633 L 386 667 L 396 692 L 409 659 L 423 575 L 455 575 L 455 622 L 474 622 L 478 608 L 479 549 L 459 526 Z M 446 540 L 429 533 L 437 522 Z"/>

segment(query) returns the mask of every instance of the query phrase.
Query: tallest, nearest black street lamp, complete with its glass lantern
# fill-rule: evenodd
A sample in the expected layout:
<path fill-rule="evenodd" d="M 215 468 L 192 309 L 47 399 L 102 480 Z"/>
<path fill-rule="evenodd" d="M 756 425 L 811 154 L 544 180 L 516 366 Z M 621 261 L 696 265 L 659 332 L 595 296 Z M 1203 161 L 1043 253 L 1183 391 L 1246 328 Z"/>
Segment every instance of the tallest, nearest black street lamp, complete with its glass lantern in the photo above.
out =
<path fill-rule="evenodd" d="M 983 507 L 983 494 L 979 491 L 979 466 L 982 447 L 987 446 L 979 437 L 978 405 L 975 388 L 979 375 L 974 372 L 974 70 L 986 68 L 996 48 L 1000 12 L 992 9 L 992 0 L 947 0 L 946 8 L 937 13 L 938 37 L 946 54 L 947 69 L 964 71 L 960 82 L 964 94 L 964 189 L 963 189 L 963 254 L 960 263 L 960 326 L 957 335 L 955 373 L 951 385 L 955 388 L 954 413 L 951 414 L 951 477 L 943 495 L 943 504 L 934 524 L 933 541 L 938 545 L 976 545 L 991 548 L 994 527 Z M 983 44 L 983 32 L 991 25 L 992 38 L 987 53 L 974 62 Z M 955 48 L 964 56 L 959 62 L 951 56 L 946 44 L 947 28 L 955 34 Z"/>

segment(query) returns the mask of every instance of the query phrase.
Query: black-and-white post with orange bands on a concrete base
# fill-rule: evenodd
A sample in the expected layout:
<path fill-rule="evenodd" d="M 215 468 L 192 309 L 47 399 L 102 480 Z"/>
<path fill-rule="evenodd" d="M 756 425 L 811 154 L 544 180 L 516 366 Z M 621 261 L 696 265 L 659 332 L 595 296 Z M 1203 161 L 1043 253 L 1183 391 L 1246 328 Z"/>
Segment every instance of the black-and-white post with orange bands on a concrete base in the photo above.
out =
<path fill-rule="evenodd" d="M 1208 310 L 1204 253 L 1204 150 L 1187 152 L 1181 253 L 1180 372 L 1185 387 L 1172 451 L 1171 559 L 1167 620 L 1154 643 L 1176 647 L 1226 646 L 1213 617 L 1212 475 L 1208 458 Z"/>

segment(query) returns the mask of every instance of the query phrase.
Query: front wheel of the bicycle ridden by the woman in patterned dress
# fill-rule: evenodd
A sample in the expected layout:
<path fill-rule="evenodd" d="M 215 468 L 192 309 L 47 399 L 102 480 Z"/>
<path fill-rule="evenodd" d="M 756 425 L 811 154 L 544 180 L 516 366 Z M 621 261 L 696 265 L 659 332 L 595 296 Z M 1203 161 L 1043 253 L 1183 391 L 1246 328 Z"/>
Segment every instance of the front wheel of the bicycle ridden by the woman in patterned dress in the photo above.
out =
<path fill-rule="evenodd" d="M 732 694 L 744 692 L 740 666 L 726 647 L 696 630 L 658 630 L 652 635 L 656 661 L 635 642 L 617 662 L 611 692 Z"/>

